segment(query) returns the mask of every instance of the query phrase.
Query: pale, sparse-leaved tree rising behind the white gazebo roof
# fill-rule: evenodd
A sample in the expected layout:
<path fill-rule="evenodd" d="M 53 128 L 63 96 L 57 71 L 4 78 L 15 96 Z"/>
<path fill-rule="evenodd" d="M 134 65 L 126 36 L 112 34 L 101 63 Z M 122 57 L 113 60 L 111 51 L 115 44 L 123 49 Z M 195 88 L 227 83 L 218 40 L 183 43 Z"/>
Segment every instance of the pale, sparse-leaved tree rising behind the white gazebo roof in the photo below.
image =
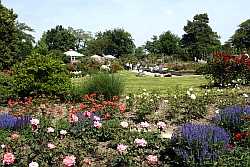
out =
<path fill-rule="evenodd" d="M 90 31 L 84 31 L 83 29 L 75 30 L 72 27 L 68 27 L 68 30 L 76 38 L 75 47 L 77 51 L 84 51 L 87 42 L 94 39 Z"/>

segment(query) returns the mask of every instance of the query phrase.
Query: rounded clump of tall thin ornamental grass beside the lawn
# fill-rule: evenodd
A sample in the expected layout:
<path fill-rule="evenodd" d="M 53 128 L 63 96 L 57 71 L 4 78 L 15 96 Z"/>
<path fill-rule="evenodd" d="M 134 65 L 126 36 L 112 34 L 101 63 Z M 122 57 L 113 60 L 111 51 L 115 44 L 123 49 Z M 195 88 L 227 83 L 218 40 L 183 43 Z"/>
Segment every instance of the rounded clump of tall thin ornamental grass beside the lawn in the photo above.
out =
<path fill-rule="evenodd" d="M 122 94 L 124 84 L 121 77 L 114 74 L 100 73 L 93 75 L 84 83 L 87 94 L 103 94 L 106 100 Z"/>

